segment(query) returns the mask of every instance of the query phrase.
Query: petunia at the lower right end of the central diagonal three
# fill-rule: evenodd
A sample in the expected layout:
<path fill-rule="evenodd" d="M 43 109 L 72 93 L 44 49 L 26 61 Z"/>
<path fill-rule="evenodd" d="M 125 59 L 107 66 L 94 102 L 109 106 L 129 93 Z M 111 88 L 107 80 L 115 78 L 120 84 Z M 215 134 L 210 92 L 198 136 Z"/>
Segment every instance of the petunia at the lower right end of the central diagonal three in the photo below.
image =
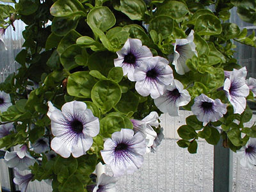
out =
<path fill-rule="evenodd" d="M 179 107 L 186 106 L 191 97 L 187 90 L 184 90 L 183 84 L 174 79 L 172 84 L 166 86 L 163 95 L 154 99 L 157 108 L 163 113 L 169 113 L 170 116 L 179 116 Z"/>

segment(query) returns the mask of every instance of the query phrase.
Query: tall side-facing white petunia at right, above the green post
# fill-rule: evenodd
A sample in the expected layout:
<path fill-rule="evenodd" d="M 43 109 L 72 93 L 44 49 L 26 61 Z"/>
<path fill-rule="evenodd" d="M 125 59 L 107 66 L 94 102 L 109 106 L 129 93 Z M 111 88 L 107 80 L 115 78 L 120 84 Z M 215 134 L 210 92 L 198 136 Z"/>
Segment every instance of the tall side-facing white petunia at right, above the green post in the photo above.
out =
<path fill-rule="evenodd" d="M 234 69 L 224 82 L 223 90 L 229 102 L 234 108 L 234 113 L 241 114 L 246 108 L 246 97 L 249 95 L 250 89 L 246 84 L 244 69 Z"/>

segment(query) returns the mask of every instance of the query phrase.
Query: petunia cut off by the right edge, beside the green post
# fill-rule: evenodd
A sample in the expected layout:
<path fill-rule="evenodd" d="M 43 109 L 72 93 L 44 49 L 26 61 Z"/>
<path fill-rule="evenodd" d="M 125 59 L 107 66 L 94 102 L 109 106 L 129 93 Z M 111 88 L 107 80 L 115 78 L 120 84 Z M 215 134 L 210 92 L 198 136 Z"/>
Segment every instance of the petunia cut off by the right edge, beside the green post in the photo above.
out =
<path fill-rule="evenodd" d="M 246 145 L 237 151 L 241 166 L 253 168 L 256 166 L 256 138 L 250 138 Z"/>

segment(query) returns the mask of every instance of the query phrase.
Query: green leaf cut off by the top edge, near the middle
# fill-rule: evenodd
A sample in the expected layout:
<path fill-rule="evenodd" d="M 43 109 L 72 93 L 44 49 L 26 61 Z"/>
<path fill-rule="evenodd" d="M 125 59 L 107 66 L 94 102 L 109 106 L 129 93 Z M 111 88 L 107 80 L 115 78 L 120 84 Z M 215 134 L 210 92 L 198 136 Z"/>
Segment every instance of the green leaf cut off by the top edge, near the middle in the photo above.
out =
<path fill-rule="evenodd" d="M 131 20 L 142 20 L 147 10 L 143 0 L 120 0 L 120 11 Z"/>

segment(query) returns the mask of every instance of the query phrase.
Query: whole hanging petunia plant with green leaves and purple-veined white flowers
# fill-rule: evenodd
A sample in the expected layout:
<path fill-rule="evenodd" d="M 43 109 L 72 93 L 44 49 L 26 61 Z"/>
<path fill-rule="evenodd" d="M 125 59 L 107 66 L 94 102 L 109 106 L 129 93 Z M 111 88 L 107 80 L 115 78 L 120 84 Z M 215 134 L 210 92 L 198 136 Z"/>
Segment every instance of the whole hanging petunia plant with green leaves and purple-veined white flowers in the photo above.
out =
<path fill-rule="evenodd" d="M 20 67 L 0 84 L 0 148 L 20 146 L 4 161 L 31 170 L 15 175 L 22 191 L 30 180 L 111 191 L 157 150 L 159 116 L 181 108 L 193 115 L 177 129 L 180 147 L 196 153 L 199 138 L 223 138 L 256 164 L 255 125 L 244 127 L 256 80 L 233 56 L 234 40 L 256 47 L 256 38 L 228 22 L 236 6 L 255 24 L 255 1 L 2 1 L 1 41 L 15 20 L 26 24 Z"/>

